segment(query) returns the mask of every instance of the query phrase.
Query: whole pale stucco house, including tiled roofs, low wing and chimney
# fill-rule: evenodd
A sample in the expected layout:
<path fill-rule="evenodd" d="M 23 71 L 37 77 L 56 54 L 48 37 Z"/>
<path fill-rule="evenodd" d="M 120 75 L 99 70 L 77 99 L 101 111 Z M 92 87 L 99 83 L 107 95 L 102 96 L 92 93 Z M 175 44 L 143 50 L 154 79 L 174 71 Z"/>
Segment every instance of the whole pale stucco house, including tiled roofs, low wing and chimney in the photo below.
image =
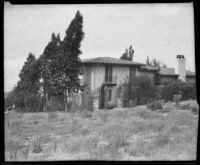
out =
<path fill-rule="evenodd" d="M 156 73 L 161 82 L 181 79 L 190 83 L 196 82 L 194 72 L 184 69 L 184 56 L 177 56 L 176 68 L 158 70 L 143 63 L 111 57 L 97 57 L 82 60 L 83 84 L 87 85 L 98 99 L 99 108 L 106 108 L 109 103 L 116 104 L 117 88 L 128 78 L 146 75 L 153 80 Z"/>

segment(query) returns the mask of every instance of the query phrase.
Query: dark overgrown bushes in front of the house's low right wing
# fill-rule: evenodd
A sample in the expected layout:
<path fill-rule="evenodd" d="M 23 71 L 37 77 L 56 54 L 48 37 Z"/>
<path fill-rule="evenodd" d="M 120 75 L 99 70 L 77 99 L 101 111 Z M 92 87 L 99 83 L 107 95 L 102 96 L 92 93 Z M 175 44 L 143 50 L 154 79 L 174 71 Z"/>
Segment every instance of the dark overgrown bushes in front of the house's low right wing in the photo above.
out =
<path fill-rule="evenodd" d="M 121 94 L 122 93 L 122 94 Z M 122 95 L 123 106 L 148 104 L 156 100 L 174 101 L 196 99 L 196 85 L 179 80 L 155 86 L 148 76 L 128 78 L 119 86 L 118 96 Z"/>

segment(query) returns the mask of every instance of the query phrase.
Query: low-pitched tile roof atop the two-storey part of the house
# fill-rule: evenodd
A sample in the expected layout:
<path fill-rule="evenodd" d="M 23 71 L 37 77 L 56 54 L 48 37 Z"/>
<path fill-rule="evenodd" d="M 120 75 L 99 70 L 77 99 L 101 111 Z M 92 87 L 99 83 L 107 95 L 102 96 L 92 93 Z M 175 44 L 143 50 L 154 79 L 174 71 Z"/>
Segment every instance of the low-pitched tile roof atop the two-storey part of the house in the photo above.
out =
<path fill-rule="evenodd" d="M 139 62 L 127 61 L 111 57 L 89 58 L 89 59 L 82 59 L 81 61 L 83 64 L 115 64 L 115 65 L 138 65 L 138 66 L 145 65 Z"/>

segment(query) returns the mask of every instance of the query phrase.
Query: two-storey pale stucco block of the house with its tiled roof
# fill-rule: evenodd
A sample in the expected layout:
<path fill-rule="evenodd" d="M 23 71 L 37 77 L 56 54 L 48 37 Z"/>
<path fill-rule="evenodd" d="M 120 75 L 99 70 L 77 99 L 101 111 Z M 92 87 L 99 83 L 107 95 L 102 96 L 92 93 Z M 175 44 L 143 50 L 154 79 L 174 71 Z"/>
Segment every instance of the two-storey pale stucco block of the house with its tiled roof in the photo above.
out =
<path fill-rule="evenodd" d="M 92 93 L 100 98 L 100 107 L 116 102 L 117 87 L 127 77 L 140 75 L 140 66 L 145 64 L 111 57 L 97 57 L 82 60 L 83 84 L 87 84 Z"/>

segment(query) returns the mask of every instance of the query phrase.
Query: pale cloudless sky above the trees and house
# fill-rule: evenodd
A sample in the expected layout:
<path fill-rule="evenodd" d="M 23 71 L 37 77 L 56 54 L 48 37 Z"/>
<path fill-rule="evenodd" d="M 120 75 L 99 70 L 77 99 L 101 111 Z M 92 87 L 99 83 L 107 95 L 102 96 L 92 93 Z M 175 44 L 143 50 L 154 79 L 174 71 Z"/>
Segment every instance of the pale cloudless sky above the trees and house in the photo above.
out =
<path fill-rule="evenodd" d="M 186 69 L 195 71 L 193 3 L 11 5 L 4 3 L 4 91 L 19 81 L 32 52 L 38 58 L 51 34 L 65 36 L 76 11 L 83 15 L 85 37 L 81 59 L 119 58 L 133 46 L 133 61 L 147 56 L 175 67 L 184 55 Z"/>

